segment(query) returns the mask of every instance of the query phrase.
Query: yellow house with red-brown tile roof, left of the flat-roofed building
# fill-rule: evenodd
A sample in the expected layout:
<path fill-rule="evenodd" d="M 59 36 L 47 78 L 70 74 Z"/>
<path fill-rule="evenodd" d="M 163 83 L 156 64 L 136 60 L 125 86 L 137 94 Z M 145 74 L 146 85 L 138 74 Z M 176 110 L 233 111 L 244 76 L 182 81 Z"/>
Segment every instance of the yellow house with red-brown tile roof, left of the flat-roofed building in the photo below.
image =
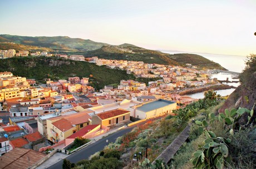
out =
<path fill-rule="evenodd" d="M 92 124 L 101 124 L 104 126 L 113 126 L 129 120 L 130 111 L 124 109 L 110 110 L 92 116 Z"/>

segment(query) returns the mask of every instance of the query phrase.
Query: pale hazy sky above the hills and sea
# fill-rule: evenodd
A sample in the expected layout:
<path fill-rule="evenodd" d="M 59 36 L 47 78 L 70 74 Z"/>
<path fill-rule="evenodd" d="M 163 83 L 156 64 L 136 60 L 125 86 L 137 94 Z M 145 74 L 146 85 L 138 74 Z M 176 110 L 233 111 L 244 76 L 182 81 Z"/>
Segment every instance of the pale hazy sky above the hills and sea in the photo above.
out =
<path fill-rule="evenodd" d="M 0 34 L 256 54 L 256 0 L 1 0 Z"/>

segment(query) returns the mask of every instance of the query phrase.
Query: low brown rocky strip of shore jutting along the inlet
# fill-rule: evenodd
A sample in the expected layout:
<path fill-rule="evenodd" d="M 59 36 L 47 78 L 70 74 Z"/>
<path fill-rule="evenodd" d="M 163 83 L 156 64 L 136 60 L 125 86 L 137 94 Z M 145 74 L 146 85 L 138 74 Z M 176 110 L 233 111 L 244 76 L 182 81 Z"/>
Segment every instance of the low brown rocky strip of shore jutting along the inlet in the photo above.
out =
<path fill-rule="evenodd" d="M 184 90 L 184 91 L 181 91 L 178 94 L 181 95 L 181 96 L 184 96 L 184 95 L 200 93 L 200 92 L 208 91 L 208 90 L 224 90 L 224 89 L 232 89 L 232 88 L 235 89 L 234 86 L 229 86 L 229 85 L 224 85 L 224 84 L 216 84 L 216 85 L 205 86 L 205 87 L 201 87 L 201 88 Z"/>

